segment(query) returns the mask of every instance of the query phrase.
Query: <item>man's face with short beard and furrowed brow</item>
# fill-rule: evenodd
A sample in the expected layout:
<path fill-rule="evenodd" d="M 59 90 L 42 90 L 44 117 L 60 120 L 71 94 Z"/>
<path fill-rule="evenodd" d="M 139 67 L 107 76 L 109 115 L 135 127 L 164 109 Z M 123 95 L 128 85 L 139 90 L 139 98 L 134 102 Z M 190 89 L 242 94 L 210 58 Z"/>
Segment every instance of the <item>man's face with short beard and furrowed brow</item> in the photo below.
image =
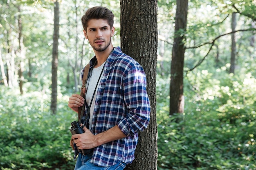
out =
<path fill-rule="evenodd" d="M 91 19 L 88 21 L 86 31 L 83 30 L 85 38 L 96 51 L 105 51 L 111 44 L 111 37 L 114 35 L 114 26 L 110 28 L 108 22 L 103 19 Z"/>

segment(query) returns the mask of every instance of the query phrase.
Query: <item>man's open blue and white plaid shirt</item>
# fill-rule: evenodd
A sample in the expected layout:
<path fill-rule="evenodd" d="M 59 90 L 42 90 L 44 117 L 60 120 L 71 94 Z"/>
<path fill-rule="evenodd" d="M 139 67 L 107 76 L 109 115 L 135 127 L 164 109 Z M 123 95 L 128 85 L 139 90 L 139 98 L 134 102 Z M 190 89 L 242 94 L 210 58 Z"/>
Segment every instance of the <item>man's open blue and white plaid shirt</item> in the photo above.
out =
<path fill-rule="evenodd" d="M 90 66 L 95 60 L 94 56 Z M 83 71 L 81 77 L 83 79 Z M 85 114 L 82 122 L 84 119 Z M 90 130 L 96 135 L 118 125 L 127 137 L 94 148 L 91 163 L 104 167 L 115 165 L 117 161 L 132 163 L 138 132 L 148 126 L 149 119 L 150 102 L 144 70 L 119 47 L 115 47 L 104 66 Z"/>

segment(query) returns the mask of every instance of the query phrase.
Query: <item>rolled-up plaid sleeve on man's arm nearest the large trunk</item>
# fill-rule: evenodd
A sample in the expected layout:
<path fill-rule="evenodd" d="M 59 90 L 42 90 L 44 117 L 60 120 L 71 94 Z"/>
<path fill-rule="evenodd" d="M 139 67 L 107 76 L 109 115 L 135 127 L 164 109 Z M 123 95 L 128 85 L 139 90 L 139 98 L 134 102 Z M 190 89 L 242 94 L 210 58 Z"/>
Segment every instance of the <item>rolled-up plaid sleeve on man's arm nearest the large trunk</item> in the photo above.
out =
<path fill-rule="evenodd" d="M 118 126 L 126 136 L 143 131 L 150 120 L 150 102 L 146 91 L 146 75 L 140 65 L 130 69 L 124 79 L 124 102 L 128 114 Z"/>

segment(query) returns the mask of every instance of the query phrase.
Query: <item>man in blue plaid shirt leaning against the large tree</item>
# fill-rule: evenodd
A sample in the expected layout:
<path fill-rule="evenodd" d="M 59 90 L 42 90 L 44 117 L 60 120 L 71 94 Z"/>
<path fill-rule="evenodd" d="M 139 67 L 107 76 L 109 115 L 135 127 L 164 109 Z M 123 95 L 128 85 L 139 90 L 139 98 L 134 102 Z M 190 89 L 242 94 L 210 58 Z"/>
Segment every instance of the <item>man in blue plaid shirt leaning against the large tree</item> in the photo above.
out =
<path fill-rule="evenodd" d="M 93 7 L 81 19 L 95 56 L 90 60 L 83 88 L 85 99 L 73 94 L 68 106 L 78 113 L 85 103 L 81 117 L 85 132 L 72 135 L 72 139 L 75 148 L 92 152 L 79 153 L 75 170 L 123 170 L 135 159 L 138 132 L 148 126 L 150 119 L 146 75 L 134 59 L 113 47 L 113 18 L 109 9 Z"/>

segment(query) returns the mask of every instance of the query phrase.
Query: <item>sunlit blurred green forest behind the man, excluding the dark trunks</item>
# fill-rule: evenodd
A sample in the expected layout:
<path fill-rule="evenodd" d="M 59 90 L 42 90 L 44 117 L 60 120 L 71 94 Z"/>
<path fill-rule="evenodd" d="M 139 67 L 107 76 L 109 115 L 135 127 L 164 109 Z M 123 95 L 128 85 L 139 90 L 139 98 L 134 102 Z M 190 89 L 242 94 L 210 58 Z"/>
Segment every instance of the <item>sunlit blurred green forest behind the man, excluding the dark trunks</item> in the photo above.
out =
<path fill-rule="evenodd" d="M 67 107 L 94 55 L 80 22 L 86 9 L 115 14 L 119 0 L 59 1 L 56 110 L 52 108 L 54 0 L 0 0 L 1 170 L 70 170 Z M 158 0 L 158 170 L 256 169 L 256 1 L 191 0 L 184 42 L 184 113 L 170 112 L 175 0 Z M 150 38 L 150 37 L 149 37 Z"/>

